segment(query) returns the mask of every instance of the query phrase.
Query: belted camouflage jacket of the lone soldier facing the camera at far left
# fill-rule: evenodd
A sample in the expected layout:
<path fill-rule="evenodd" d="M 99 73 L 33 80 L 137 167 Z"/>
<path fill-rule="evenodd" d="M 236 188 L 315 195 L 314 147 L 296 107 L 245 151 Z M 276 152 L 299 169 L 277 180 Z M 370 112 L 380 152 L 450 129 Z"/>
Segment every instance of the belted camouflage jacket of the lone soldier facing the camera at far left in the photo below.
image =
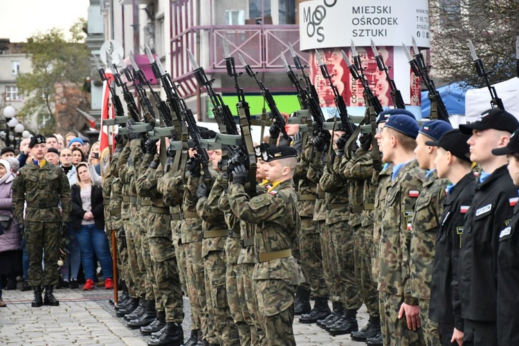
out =
<path fill-rule="evenodd" d="M 24 203 L 27 208 L 24 218 Z M 61 209 L 59 203 L 61 202 Z M 40 203 L 55 206 L 39 208 Z M 61 167 L 33 162 L 24 165 L 12 182 L 12 209 L 15 219 L 33 222 L 68 222 L 71 212 L 71 187 Z"/>

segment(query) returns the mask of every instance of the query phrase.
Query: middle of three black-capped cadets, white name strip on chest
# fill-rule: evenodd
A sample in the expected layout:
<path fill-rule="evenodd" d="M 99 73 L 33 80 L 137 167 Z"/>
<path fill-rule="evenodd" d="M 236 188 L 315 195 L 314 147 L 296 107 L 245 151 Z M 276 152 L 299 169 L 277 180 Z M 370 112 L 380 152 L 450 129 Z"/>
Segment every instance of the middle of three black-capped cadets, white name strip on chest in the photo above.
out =
<path fill-rule="evenodd" d="M 459 253 L 459 296 L 462 304 L 464 345 L 497 345 L 497 269 L 501 230 L 507 227 L 517 189 L 507 171 L 506 156 L 492 149 L 505 147 L 519 127 L 516 118 L 492 109 L 480 120 L 459 129 L 472 134 L 471 160 L 482 167 L 474 199 L 467 212 Z"/>

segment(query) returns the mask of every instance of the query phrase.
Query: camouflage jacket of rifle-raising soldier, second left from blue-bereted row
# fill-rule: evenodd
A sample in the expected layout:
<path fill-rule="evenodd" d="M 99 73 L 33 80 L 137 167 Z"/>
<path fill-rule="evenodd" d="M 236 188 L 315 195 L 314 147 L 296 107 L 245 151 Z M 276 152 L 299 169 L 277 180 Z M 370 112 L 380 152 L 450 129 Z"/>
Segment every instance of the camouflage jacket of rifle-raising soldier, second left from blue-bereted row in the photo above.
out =
<path fill-rule="evenodd" d="M 326 192 L 326 224 L 349 221 L 349 181 L 339 173 L 340 157 L 336 157 L 333 165 L 325 168 L 319 184 Z"/>

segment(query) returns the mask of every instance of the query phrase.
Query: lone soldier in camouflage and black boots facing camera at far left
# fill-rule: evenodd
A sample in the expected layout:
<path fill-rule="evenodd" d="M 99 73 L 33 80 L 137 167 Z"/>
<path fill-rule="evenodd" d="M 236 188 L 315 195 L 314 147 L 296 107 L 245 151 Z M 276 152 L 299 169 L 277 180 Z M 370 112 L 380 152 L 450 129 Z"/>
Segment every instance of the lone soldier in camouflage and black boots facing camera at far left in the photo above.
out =
<path fill-rule="evenodd" d="M 54 298 L 53 289 L 57 284 L 61 238 L 69 230 L 71 189 L 65 172 L 45 160 L 47 146 L 44 136 L 31 138 L 29 148 L 33 161 L 18 171 L 12 183 L 13 216 L 23 225 L 21 234 L 26 239 L 29 254 L 27 276 L 34 290 L 31 306 L 57 306 L 60 302 Z M 27 208 L 24 217 L 25 203 Z M 45 284 L 44 300 L 42 283 Z"/>

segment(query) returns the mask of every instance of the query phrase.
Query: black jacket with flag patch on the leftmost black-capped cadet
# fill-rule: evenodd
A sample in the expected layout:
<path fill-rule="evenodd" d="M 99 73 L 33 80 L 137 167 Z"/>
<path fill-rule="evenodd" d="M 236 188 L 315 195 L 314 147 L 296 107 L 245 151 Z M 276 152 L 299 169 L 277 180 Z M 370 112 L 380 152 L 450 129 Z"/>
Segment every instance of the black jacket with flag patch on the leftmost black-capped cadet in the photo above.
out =
<path fill-rule="evenodd" d="M 477 181 L 470 172 L 458 181 L 444 201 L 436 235 L 435 264 L 430 283 L 429 318 L 463 330 L 457 287 L 459 248 L 465 215 L 471 205 Z M 454 298 L 454 299 L 453 299 Z"/>

